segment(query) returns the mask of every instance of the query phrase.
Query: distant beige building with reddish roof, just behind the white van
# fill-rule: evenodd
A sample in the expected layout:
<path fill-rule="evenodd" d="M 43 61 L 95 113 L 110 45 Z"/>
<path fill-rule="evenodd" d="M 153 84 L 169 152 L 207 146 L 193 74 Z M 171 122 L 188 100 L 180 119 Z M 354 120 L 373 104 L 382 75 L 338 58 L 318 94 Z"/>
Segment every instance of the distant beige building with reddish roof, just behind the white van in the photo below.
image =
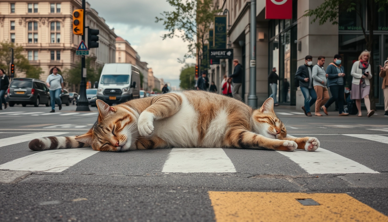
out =
<path fill-rule="evenodd" d="M 121 37 L 116 38 L 116 63 L 130 63 L 139 68 L 143 75 L 142 89 L 148 90 L 148 63 L 140 60 L 140 55 L 136 52 L 131 44 Z"/>

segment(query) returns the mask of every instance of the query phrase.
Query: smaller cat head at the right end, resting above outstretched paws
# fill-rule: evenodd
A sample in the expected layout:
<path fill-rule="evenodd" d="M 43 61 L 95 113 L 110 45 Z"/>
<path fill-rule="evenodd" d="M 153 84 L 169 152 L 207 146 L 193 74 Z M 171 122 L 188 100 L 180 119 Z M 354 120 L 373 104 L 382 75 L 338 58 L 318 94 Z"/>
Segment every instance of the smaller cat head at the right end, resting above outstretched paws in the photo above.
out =
<path fill-rule="evenodd" d="M 268 98 L 260 109 L 253 111 L 255 132 L 267 138 L 282 139 L 287 136 L 283 122 L 274 112 L 274 99 Z"/>

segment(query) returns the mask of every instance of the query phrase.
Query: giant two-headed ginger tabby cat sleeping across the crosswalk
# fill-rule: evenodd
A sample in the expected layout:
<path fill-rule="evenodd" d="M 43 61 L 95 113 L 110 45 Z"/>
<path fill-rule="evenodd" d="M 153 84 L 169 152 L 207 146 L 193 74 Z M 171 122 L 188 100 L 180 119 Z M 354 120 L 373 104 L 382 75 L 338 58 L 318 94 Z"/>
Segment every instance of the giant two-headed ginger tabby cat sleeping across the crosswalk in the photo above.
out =
<path fill-rule="evenodd" d="M 99 116 L 81 136 L 50 136 L 29 143 L 31 150 L 92 147 L 100 151 L 172 147 L 222 147 L 314 151 L 314 137 L 288 136 L 274 100 L 260 109 L 227 96 L 181 91 L 109 106 L 97 100 Z"/>

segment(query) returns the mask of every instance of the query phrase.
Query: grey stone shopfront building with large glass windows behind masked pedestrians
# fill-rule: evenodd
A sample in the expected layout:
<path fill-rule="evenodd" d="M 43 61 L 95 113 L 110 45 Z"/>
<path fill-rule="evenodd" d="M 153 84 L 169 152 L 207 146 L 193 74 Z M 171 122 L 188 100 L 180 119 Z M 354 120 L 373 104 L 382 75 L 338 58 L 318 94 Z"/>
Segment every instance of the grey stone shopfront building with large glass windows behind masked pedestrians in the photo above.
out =
<path fill-rule="evenodd" d="M 364 19 L 359 19 L 356 12 L 342 13 L 338 19 L 338 25 L 327 22 L 319 25 L 313 18 L 303 16 L 308 9 L 315 9 L 324 0 L 293 0 L 292 19 L 265 19 L 265 1 L 256 0 L 256 95 L 258 104 L 261 105 L 271 94 L 268 84 L 268 74 L 272 67 L 277 68 L 279 75 L 278 101 L 283 105 L 296 105 L 301 101 L 301 93 L 294 86 L 294 75 L 298 66 L 305 63 L 305 56 L 313 56 L 313 64 L 316 64 L 318 56 L 326 56 L 326 64 L 333 61 L 335 54 L 341 54 L 342 65 L 351 83 L 350 70 L 352 64 L 358 59 L 359 54 L 366 49 L 365 38 L 362 34 L 361 23 L 367 27 L 366 7 L 360 9 Z M 247 101 L 249 93 L 249 33 L 250 25 L 250 1 L 249 0 L 214 0 L 215 9 L 223 12 L 228 9 L 226 15 L 230 21 L 227 31 L 227 42 L 234 49 L 234 58 L 239 59 L 244 67 L 244 81 L 241 97 Z M 375 98 L 376 104 L 383 104 L 382 79 L 378 77 L 378 65 L 383 64 L 388 56 L 388 19 L 386 9 L 383 12 L 375 12 L 378 25 L 374 30 L 376 45 L 374 46 L 375 68 Z M 222 14 L 222 12 L 220 14 Z M 367 30 L 367 33 L 369 31 Z M 259 38 L 260 37 L 260 38 Z M 224 74 L 228 74 L 229 64 L 221 59 L 220 65 L 211 65 L 209 73 L 210 81 L 215 81 L 219 86 Z M 290 88 L 284 88 L 284 80 L 289 82 Z M 297 92 L 298 91 L 298 92 Z M 297 101 L 298 100 L 298 101 Z"/>

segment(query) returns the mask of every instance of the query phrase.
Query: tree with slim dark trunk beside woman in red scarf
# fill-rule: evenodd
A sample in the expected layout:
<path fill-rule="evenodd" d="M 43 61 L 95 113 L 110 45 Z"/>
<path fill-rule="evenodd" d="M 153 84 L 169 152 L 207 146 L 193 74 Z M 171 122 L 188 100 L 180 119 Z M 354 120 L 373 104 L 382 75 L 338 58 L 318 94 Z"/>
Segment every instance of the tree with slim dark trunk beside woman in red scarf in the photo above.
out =
<path fill-rule="evenodd" d="M 340 13 L 352 12 L 355 11 L 357 16 L 360 17 L 362 21 L 364 18 L 362 17 L 363 7 L 361 7 L 362 3 L 365 0 L 325 0 L 322 5 L 318 6 L 316 9 L 306 10 L 304 16 L 315 16 L 312 20 L 312 23 L 319 20 L 319 24 L 322 25 L 329 20 L 332 24 L 338 24 L 337 19 Z M 364 33 L 366 49 L 371 52 L 371 58 L 369 58 L 369 64 L 371 66 L 372 79 L 369 81 L 371 84 L 371 89 L 369 91 L 369 100 L 371 100 L 371 109 L 376 110 L 376 101 L 374 100 L 374 60 L 373 60 L 373 30 L 375 25 L 377 24 L 376 16 L 374 15 L 374 10 L 378 7 L 378 12 L 381 12 L 388 5 L 387 0 L 366 0 L 366 14 L 367 14 L 367 23 L 369 33 L 366 32 L 364 23 L 361 23 L 361 29 Z M 378 70 L 379 72 L 379 70 Z"/>

